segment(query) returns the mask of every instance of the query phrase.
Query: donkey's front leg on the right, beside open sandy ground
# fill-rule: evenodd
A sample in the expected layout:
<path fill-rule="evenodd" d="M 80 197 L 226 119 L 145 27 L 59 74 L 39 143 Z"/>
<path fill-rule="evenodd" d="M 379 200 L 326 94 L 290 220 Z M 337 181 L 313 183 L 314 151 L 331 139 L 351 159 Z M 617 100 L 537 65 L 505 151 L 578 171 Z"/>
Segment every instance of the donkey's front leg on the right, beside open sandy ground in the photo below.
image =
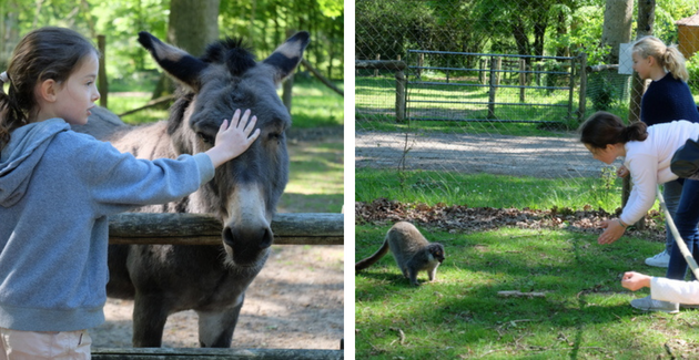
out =
<path fill-rule="evenodd" d="M 202 348 L 230 348 L 237 317 L 243 308 L 244 295 L 237 305 L 216 310 L 196 310 L 199 315 L 199 344 Z"/>

